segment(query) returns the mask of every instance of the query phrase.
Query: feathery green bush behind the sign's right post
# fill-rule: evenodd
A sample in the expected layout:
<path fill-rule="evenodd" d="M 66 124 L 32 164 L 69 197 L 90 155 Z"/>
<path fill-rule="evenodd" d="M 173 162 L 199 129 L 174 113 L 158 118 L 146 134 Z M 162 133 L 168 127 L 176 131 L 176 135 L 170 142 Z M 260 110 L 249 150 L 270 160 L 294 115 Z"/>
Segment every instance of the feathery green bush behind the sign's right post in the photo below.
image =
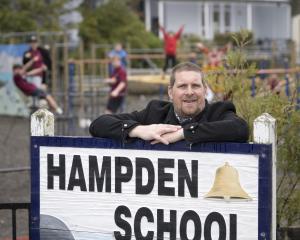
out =
<path fill-rule="evenodd" d="M 288 99 L 256 86 L 251 97 L 250 77 L 255 75 L 255 64 L 246 62 L 243 48 L 249 43 L 246 31 L 233 35 L 238 48 L 226 56 L 226 68 L 219 74 L 208 74 L 208 82 L 222 80 L 226 93 L 231 93 L 238 114 L 251 127 L 255 118 L 264 112 L 271 114 L 277 123 L 277 223 L 289 227 L 300 220 L 300 111 L 296 99 Z M 296 89 L 295 89 L 296 91 Z M 296 94 L 294 94 L 296 96 Z M 251 136 L 251 141 L 253 137 Z"/>

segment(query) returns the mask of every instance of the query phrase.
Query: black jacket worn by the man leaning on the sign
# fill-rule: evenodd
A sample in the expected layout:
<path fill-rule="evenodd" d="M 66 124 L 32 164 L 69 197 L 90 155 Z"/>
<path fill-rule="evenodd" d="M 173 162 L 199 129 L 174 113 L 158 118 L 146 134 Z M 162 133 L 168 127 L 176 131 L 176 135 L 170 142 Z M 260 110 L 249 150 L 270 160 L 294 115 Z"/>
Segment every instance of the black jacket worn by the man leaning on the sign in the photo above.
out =
<path fill-rule="evenodd" d="M 247 123 L 236 114 L 231 102 L 208 104 L 192 122 L 183 125 L 185 140 L 196 142 L 246 142 L 249 136 Z M 137 125 L 179 125 L 173 104 L 153 100 L 140 112 L 102 115 L 90 126 L 94 137 L 128 140 L 128 133 Z"/>

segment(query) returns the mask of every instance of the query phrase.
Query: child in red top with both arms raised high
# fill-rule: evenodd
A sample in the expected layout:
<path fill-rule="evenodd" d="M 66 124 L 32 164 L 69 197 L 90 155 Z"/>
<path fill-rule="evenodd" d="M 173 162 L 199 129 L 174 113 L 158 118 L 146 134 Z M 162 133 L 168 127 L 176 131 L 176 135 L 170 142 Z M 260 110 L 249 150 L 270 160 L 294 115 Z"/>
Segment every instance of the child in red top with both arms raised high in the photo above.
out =
<path fill-rule="evenodd" d="M 182 25 L 175 34 L 167 33 L 162 26 L 159 26 L 159 28 L 164 35 L 165 65 L 163 72 L 165 73 L 168 67 L 172 68 L 176 65 L 177 40 L 180 38 L 184 26 Z"/>

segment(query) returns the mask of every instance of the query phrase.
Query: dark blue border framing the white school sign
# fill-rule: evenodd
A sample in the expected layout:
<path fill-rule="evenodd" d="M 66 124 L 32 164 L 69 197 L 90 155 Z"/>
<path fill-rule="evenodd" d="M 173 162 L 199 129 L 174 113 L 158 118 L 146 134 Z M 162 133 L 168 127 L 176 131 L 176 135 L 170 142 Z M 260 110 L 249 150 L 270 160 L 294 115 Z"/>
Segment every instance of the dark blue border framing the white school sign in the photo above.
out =
<path fill-rule="evenodd" d="M 30 239 L 40 240 L 40 146 L 74 148 L 141 149 L 161 151 L 257 154 L 259 156 L 258 238 L 271 239 L 272 222 L 272 145 L 249 143 L 198 143 L 185 141 L 170 145 L 137 140 L 122 144 L 119 141 L 91 137 L 31 137 L 31 216 Z"/>

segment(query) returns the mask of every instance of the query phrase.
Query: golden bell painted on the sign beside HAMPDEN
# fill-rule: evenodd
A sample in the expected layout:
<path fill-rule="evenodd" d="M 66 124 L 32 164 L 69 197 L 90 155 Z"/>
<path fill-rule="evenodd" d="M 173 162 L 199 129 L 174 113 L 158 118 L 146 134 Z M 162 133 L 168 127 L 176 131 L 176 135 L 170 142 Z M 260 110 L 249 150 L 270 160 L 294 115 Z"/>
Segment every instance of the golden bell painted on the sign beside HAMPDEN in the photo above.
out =
<path fill-rule="evenodd" d="M 241 187 L 238 171 L 228 162 L 217 169 L 214 184 L 204 198 L 252 200 Z"/>

